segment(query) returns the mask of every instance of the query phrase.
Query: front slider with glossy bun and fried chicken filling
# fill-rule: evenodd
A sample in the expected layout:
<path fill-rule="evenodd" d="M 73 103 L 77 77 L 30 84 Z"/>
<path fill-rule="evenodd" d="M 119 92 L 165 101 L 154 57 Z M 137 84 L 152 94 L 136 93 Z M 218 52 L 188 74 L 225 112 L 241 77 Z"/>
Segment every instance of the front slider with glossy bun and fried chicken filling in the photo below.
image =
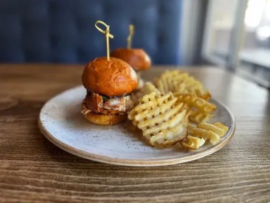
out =
<path fill-rule="evenodd" d="M 127 98 L 137 87 L 134 69 L 118 58 L 96 58 L 82 73 L 82 84 L 87 95 L 82 103 L 82 114 L 92 123 L 113 125 L 127 114 Z"/>

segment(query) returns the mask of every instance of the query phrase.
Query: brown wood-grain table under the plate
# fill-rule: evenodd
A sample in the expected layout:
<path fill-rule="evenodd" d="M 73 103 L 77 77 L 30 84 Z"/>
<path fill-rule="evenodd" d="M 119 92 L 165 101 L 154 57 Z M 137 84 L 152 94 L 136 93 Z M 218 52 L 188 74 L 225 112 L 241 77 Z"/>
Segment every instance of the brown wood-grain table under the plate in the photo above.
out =
<path fill-rule="evenodd" d="M 153 79 L 164 68 L 145 73 Z M 42 105 L 81 84 L 83 66 L 0 65 L 0 202 L 270 202 L 270 94 L 222 69 L 187 69 L 225 103 L 236 132 L 185 164 L 132 168 L 73 156 L 40 133 Z"/>

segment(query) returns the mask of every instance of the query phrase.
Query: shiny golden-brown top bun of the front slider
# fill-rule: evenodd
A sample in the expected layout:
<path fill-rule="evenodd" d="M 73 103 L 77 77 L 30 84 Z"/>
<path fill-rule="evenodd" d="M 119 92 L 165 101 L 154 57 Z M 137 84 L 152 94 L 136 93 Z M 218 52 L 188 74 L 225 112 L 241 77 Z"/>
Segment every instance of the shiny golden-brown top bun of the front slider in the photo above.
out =
<path fill-rule="evenodd" d="M 130 94 L 137 87 L 133 68 L 118 58 L 95 58 L 82 73 L 82 84 L 90 92 L 108 97 Z"/>

